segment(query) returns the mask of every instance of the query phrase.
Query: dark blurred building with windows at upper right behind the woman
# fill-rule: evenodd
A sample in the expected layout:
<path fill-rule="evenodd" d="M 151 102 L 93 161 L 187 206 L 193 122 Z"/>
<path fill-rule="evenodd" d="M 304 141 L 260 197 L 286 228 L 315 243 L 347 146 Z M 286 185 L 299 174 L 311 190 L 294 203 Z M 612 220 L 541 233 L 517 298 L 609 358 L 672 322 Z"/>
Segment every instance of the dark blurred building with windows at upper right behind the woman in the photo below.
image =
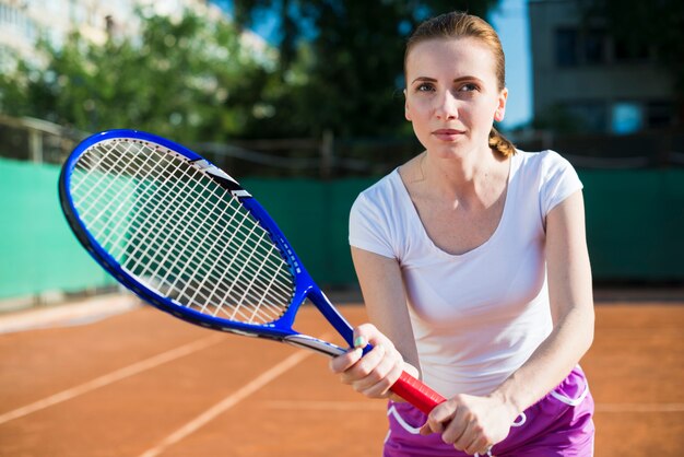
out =
<path fill-rule="evenodd" d="M 600 21 L 586 23 L 579 4 L 529 2 L 534 118 L 622 136 L 676 125 L 673 81 L 653 49 L 632 49 Z"/>

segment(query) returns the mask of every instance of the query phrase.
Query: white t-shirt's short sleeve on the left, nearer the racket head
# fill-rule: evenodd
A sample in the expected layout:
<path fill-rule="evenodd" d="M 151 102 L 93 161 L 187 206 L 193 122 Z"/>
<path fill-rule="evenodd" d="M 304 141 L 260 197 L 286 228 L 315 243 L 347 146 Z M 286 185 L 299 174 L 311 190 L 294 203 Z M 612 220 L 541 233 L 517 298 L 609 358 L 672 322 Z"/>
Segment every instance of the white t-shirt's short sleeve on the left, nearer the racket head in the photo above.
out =
<path fill-rule="evenodd" d="M 396 258 L 389 221 L 381 207 L 361 194 L 350 212 L 350 245 L 384 257 Z"/>

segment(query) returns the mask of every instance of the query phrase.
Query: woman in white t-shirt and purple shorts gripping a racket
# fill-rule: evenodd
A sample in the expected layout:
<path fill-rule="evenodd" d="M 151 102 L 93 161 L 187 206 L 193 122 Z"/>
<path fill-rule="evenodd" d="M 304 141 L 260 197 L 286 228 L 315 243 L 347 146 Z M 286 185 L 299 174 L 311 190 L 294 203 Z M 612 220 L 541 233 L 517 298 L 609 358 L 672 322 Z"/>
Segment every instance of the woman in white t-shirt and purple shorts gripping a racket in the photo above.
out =
<path fill-rule="evenodd" d="M 553 151 L 517 150 L 494 30 L 459 12 L 409 39 L 405 118 L 425 151 L 356 199 L 350 243 L 369 319 L 342 382 L 388 398 L 385 456 L 591 456 L 578 362 L 593 338 L 582 185 Z M 448 398 L 429 415 L 402 370 Z"/>

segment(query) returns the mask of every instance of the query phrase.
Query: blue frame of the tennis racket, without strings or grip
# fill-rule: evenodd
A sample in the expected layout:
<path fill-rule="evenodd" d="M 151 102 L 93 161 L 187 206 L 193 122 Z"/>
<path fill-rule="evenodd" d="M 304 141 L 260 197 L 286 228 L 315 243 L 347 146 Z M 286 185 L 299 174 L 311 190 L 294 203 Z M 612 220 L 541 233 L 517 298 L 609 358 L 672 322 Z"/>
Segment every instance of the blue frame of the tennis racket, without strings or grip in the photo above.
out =
<path fill-rule="evenodd" d="M 71 184 L 71 175 L 79 159 L 83 153 L 96 143 L 116 140 L 116 139 L 132 139 L 145 143 L 158 144 L 165 149 L 168 149 L 176 154 L 179 154 L 192 163 L 201 164 L 199 167 L 207 176 L 211 177 L 221 187 L 231 191 L 237 197 L 243 206 L 251 213 L 251 215 L 259 221 L 259 224 L 269 233 L 273 243 L 283 254 L 283 257 L 294 277 L 295 291 L 287 307 L 286 312 L 276 320 L 263 324 L 263 325 L 250 325 L 220 317 L 212 317 L 193 310 L 184 306 L 182 304 L 165 297 L 152 289 L 141 284 L 138 280 L 128 274 L 101 245 L 90 234 L 81 219 L 79 218 L 79 211 L 73 203 L 71 194 L 69 192 Z M 152 133 L 139 131 L 139 130 L 107 130 L 99 133 L 95 133 L 85 140 L 83 140 L 69 155 L 59 177 L 59 196 L 62 207 L 62 211 L 67 218 L 67 221 L 73 230 L 76 238 L 83 245 L 83 247 L 90 253 L 90 255 L 99 263 L 107 272 L 117 279 L 122 285 L 142 298 L 144 302 L 157 307 L 161 310 L 170 313 L 174 316 L 181 318 L 188 323 L 199 325 L 201 327 L 211 328 L 214 330 L 226 331 L 231 333 L 238 333 L 243 336 L 260 337 L 273 339 L 290 344 L 310 349 L 317 352 L 321 352 L 326 355 L 338 355 L 345 352 L 345 349 L 327 341 L 299 333 L 293 329 L 294 320 L 298 308 L 308 298 L 328 319 L 328 321 L 335 328 L 335 330 L 342 336 L 349 347 L 353 347 L 353 329 L 344 317 L 334 308 L 332 303 L 323 294 L 323 292 L 316 285 L 314 279 L 308 273 L 299 257 L 290 245 L 285 235 L 280 227 L 268 214 L 266 209 L 253 198 L 248 191 L 246 191 L 239 183 L 233 177 L 228 176 L 221 168 L 198 155 L 193 151 L 169 141 L 165 138 L 157 137 Z M 369 348 L 366 349 L 366 351 Z"/>

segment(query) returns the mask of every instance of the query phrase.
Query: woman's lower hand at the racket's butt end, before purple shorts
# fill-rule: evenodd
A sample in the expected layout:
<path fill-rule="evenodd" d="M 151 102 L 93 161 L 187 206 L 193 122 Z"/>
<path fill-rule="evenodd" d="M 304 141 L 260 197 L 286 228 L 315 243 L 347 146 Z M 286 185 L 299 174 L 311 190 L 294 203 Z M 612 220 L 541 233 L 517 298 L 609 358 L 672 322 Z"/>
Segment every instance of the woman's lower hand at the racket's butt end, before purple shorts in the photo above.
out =
<path fill-rule="evenodd" d="M 435 407 L 421 434 L 440 433 L 445 443 L 459 450 L 486 455 L 508 436 L 517 417 L 518 411 L 502 397 L 457 395 Z"/>

